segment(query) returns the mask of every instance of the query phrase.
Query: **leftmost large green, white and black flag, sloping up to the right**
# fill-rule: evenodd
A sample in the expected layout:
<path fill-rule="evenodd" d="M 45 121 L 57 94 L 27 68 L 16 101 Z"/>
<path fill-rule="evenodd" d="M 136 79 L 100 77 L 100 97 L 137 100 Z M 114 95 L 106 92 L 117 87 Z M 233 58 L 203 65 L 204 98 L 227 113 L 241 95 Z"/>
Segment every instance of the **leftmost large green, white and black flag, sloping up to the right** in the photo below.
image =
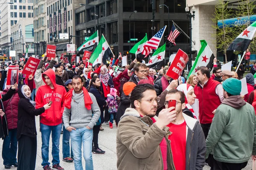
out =
<path fill-rule="evenodd" d="M 77 48 L 76 54 L 84 54 L 84 51 L 93 52 L 99 42 L 98 30 L 88 38 L 79 48 Z"/>

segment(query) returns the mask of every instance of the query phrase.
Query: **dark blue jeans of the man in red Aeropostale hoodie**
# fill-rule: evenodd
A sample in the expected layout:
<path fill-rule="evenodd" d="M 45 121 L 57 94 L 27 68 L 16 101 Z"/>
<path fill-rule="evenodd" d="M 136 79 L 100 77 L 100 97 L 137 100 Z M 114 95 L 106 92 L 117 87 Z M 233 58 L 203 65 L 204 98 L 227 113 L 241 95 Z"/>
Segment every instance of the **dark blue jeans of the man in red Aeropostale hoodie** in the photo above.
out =
<path fill-rule="evenodd" d="M 52 165 L 60 163 L 59 156 L 59 144 L 61 136 L 62 123 L 56 126 L 47 126 L 41 123 L 41 134 L 42 134 L 42 166 L 49 165 L 49 140 L 52 132 Z"/>

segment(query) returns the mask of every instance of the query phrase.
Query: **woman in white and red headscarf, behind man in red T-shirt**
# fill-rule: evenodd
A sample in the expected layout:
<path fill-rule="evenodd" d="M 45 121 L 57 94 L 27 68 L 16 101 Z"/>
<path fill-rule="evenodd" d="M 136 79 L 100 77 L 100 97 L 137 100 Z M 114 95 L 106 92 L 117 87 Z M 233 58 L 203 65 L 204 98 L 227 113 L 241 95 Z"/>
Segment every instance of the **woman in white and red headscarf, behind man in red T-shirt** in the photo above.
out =
<path fill-rule="evenodd" d="M 195 115 L 193 108 L 191 107 L 191 105 L 195 103 L 196 98 L 192 85 L 181 84 L 177 87 L 177 90 L 182 91 L 185 94 L 186 108 L 183 109 L 182 112 L 192 118 L 198 119 L 198 117 Z"/>

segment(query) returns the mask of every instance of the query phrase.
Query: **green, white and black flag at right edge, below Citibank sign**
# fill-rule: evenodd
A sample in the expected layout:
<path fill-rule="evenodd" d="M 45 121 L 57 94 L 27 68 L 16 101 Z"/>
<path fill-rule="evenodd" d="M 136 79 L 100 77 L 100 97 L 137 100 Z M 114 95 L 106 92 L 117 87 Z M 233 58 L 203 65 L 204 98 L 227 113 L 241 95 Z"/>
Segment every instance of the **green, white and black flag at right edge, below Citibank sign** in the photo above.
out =
<path fill-rule="evenodd" d="M 251 40 L 255 37 L 256 21 L 248 26 L 236 39 L 230 44 L 227 50 L 246 51 Z"/>

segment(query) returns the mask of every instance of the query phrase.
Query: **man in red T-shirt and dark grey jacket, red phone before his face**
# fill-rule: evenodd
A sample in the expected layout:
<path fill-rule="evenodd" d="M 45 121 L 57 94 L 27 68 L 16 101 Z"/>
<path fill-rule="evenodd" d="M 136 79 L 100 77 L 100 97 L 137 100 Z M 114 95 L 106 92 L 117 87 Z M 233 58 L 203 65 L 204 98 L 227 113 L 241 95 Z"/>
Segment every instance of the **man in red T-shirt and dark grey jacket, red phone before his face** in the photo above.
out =
<path fill-rule="evenodd" d="M 185 94 L 177 89 L 168 91 L 166 108 L 174 103 L 176 119 L 167 125 L 172 132 L 168 139 L 172 142 L 172 156 L 176 170 L 202 170 L 205 164 L 206 144 L 204 132 L 196 119 L 182 113 L 186 108 Z"/>

